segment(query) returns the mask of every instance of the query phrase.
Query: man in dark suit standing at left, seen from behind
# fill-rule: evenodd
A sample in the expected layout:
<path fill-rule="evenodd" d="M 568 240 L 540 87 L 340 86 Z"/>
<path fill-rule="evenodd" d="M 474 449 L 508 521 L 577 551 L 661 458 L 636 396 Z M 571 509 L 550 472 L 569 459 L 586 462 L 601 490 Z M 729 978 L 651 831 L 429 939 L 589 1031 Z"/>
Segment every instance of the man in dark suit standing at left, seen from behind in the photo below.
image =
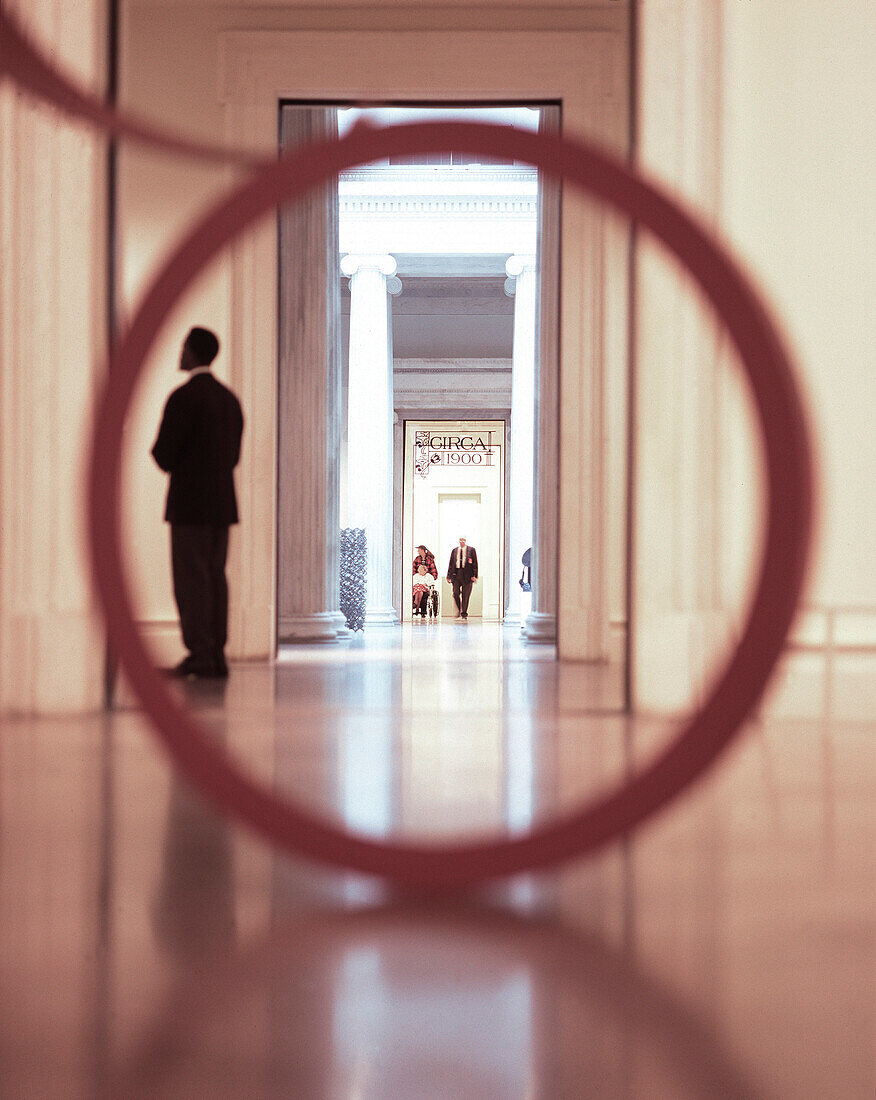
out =
<path fill-rule="evenodd" d="M 240 459 L 240 402 L 213 377 L 219 341 L 208 329 L 186 337 L 179 370 L 188 382 L 164 407 L 152 457 L 171 475 L 164 518 L 171 525 L 174 596 L 188 656 L 180 676 L 227 676 L 228 529 L 238 522 L 233 470 Z"/>

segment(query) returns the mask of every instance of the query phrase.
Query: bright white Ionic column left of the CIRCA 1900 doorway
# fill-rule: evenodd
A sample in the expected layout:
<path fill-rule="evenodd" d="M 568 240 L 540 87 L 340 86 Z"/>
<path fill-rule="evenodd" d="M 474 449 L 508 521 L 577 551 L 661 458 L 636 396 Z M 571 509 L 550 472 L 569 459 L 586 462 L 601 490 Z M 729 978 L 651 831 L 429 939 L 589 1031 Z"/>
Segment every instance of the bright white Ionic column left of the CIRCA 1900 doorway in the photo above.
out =
<path fill-rule="evenodd" d="M 365 626 L 396 622 L 392 594 L 393 382 L 388 294 L 402 284 L 385 255 L 341 261 L 350 278 L 347 524 L 368 538 Z"/>

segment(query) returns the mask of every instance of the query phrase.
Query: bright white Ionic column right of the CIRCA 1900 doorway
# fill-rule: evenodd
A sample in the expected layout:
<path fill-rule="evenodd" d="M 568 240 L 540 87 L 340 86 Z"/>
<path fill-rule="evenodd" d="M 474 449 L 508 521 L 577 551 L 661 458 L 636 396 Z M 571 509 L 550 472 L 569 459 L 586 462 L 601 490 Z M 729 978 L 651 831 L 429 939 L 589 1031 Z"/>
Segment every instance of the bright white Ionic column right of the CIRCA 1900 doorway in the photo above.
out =
<path fill-rule="evenodd" d="M 514 294 L 514 360 L 511 376 L 511 485 L 508 542 L 511 576 L 506 623 L 519 623 L 523 592 L 517 583 L 523 554 L 533 544 L 533 444 L 535 430 L 535 256 L 505 264 L 506 290 Z"/>

